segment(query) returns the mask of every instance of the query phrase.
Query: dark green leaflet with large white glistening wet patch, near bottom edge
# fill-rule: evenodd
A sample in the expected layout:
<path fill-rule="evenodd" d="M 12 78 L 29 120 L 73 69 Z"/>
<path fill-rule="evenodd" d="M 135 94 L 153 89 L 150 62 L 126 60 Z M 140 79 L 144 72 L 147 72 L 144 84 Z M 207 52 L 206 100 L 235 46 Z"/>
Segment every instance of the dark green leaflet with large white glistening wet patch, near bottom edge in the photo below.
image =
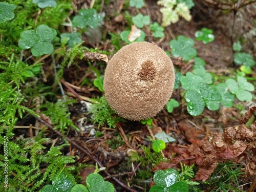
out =
<path fill-rule="evenodd" d="M 179 174 L 176 170 L 168 168 L 166 170 L 157 170 L 154 174 L 154 182 L 156 185 L 163 188 L 168 188 L 173 185 L 179 178 Z"/>

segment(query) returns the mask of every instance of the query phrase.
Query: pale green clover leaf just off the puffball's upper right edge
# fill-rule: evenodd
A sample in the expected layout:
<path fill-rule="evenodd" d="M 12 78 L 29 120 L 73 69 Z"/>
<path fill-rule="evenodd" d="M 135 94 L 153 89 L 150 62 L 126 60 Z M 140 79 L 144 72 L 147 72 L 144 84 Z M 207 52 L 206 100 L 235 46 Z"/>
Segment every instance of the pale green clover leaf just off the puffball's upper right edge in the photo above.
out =
<path fill-rule="evenodd" d="M 181 56 L 185 61 L 189 61 L 197 55 L 197 51 L 193 48 L 194 40 L 183 35 L 179 35 L 177 40 L 171 40 L 169 45 L 172 55 L 174 57 Z"/>

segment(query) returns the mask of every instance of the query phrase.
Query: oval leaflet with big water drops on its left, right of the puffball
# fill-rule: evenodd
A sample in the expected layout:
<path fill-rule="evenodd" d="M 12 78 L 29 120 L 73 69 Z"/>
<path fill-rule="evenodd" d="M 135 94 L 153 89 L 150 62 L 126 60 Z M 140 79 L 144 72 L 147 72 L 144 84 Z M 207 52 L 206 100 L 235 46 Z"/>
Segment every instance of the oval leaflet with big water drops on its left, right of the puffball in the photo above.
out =
<path fill-rule="evenodd" d="M 194 90 L 187 90 L 184 95 L 187 101 L 187 112 L 190 115 L 198 116 L 204 111 L 204 101 L 202 96 L 194 91 Z"/>

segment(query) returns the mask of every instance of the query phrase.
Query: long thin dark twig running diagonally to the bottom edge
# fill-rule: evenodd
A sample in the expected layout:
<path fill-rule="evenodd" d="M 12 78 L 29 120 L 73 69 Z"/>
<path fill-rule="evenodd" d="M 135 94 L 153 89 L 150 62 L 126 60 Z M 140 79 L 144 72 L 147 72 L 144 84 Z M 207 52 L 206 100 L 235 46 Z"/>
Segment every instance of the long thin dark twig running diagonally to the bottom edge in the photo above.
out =
<path fill-rule="evenodd" d="M 34 116 L 35 117 L 35 116 Z M 53 126 L 50 125 L 49 123 L 45 122 L 44 120 L 35 117 L 38 121 L 44 123 L 45 125 L 47 125 L 54 133 L 56 133 L 58 136 L 65 138 L 68 142 L 72 143 L 73 146 L 75 146 L 76 148 L 78 148 L 81 152 L 83 152 L 84 154 L 86 154 L 90 159 L 92 159 L 93 161 L 95 161 L 99 167 L 103 167 L 103 165 L 101 164 L 101 162 L 95 157 L 93 156 L 91 153 L 87 152 L 86 150 L 84 150 L 83 147 L 81 147 L 77 142 L 73 141 L 71 138 L 67 137 L 67 136 L 63 136 L 61 133 L 59 133 L 57 130 L 54 130 Z M 104 170 L 104 173 L 108 176 L 111 176 L 111 174 L 109 174 L 106 170 Z M 112 179 L 117 182 L 121 187 L 123 187 L 124 189 L 131 191 L 131 192 L 137 192 L 134 189 L 131 189 L 129 186 L 127 186 L 126 184 L 122 183 L 121 181 L 119 181 L 119 179 L 117 179 L 116 177 L 112 177 Z"/>

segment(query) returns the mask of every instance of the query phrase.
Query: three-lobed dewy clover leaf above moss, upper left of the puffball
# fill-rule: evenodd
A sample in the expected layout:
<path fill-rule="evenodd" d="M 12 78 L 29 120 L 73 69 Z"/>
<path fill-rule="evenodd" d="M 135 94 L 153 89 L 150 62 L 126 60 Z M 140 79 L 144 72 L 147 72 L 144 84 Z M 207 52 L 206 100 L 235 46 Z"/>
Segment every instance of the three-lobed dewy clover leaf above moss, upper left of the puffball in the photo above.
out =
<path fill-rule="evenodd" d="M 20 34 L 18 47 L 20 49 L 30 49 L 34 56 L 44 54 L 51 54 L 54 51 L 51 41 L 56 37 L 57 32 L 55 29 L 47 25 L 39 25 L 36 31 L 28 30 Z"/>

